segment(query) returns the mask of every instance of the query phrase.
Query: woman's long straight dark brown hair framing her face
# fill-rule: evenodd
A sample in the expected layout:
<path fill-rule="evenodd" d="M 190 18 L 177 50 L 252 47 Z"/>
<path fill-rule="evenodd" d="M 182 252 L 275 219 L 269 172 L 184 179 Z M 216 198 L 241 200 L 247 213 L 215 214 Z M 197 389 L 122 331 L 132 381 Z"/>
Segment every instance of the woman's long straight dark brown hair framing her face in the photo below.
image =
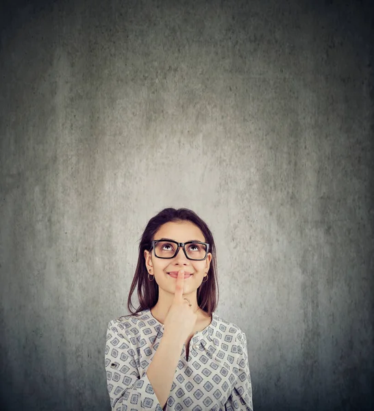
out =
<path fill-rule="evenodd" d="M 151 240 L 153 236 L 158 231 L 161 225 L 177 221 L 190 221 L 194 223 L 201 229 L 205 242 L 209 244 L 209 251 L 212 253 L 212 260 L 210 262 L 210 267 L 208 271 L 208 280 L 204 280 L 197 289 L 197 304 L 209 315 L 216 310 L 216 306 L 219 299 L 219 287 L 216 279 L 216 246 L 214 245 L 214 240 L 208 225 L 192 210 L 188 208 L 164 208 L 152 219 L 149 220 L 145 231 L 140 238 L 139 244 L 139 256 L 138 265 L 136 266 L 136 271 L 134 279 L 132 280 L 132 285 L 129 291 L 129 297 L 127 298 L 127 308 L 131 312 L 130 316 L 138 316 L 138 312 L 145 310 L 147 308 L 151 309 L 158 301 L 158 284 L 153 279 L 152 282 L 148 279 L 147 266 L 145 265 L 144 251 L 151 248 Z M 138 286 L 138 299 L 140 306 L 133 312 L 130 308 L 132 306 L 132 294 L 135 287 Z M 216 296 L 217 292 L 217 296 Z"/>

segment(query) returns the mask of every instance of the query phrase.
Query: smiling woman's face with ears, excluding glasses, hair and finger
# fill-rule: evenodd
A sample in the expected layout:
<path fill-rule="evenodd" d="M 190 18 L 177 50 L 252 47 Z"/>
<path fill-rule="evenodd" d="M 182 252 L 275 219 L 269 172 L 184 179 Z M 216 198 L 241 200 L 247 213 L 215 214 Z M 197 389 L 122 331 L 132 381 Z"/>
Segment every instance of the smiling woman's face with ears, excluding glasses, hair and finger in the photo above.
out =
<path fill-rule="evenodd" d="M 201 232 L 201 229 L 197 225 L 190 221 L 181 221 L 178 223 L 165 223 L 162 225 L 158 232 L 155 233 L 153 240 L 160 240 L 161 238 L 168 238 L 177 242 L 186 242 L 191 240 L 199 240 L 206 242 Z M 170 249 L 166 246 L 165 249 Z M 191 250 L 195 250 L 193 247 Z M 145 261 L 147 266 L 147 272 L 151 269 L 149 276 L 155 276 L 155 282 L 158 286 L 166 292 L 175 292 L 176 279 L 171 277 L 168 273 L 171 271 L 179 271 L 184 269 L 184 272 L 192 273 L 188 278 L 184 279 L 184 294 L 193 292 L 199 288 L 201 282 L 206 281 L 204 276 L 209 271 L 210 261 L 212 260 L 212 253 L 208 253 L 207 258 L 202 261 L 188 260 L 182 247 L 179 247 L 177 255 L 174 258 L 157 258 L 153 249 L 151 253 L 145 250 Z"/>

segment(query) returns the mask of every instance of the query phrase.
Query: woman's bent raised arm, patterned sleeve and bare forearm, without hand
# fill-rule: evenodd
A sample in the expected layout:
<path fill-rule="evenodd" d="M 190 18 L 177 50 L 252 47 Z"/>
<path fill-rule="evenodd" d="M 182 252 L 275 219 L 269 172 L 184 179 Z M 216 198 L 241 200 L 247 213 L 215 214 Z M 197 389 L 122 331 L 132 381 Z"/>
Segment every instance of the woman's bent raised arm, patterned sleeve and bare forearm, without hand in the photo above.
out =
<path fill-rule="evenodd" d="M 147 373 L 140 377 L 136 348 L 132 347 L 127 330 L 121 324 L 114 325 L 110 321 L 105 370 L 112 411 L 162 411 L 169 397 L 181 351 L 179 344 L 171 343 L 163 336 Z"/>

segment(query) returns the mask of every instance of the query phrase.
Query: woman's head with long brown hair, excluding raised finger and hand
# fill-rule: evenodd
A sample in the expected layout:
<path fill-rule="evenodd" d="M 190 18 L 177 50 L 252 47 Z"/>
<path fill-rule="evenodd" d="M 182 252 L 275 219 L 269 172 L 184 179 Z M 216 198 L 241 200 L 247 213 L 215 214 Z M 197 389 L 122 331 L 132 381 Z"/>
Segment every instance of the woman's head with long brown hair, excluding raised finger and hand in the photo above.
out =
<path fill-rule="evenodd" d="M 167 240 L 153 242 L 155 247 L 152 247 L 153 240 L 162 238 L 193 242 L 186 245 L 186 256 L 182 247 L 177 249 L 177 245 Z M 208 249 L 201 243 L 208 243 Z M 168 273 L 180 269 L 192 273 L 191 277 L 184 280 L 184 294 L 195 292 L 201 310 L 208 314 L 214 312 L 218 302 L 218 282 L 212 233 L 208 225 L 192 210 L 165 208 L 149 221 L 140 238 L 138 265 L 127 300 L 129 312 L 132 312 L 131 299 L 136 285 L 140 306 L 132 314 L 153 308 L 158 302 L 160 288 L 162 292 L 174 293 L 176 280 Z M 153 281 L 149 281 L 149 278 Z"/>

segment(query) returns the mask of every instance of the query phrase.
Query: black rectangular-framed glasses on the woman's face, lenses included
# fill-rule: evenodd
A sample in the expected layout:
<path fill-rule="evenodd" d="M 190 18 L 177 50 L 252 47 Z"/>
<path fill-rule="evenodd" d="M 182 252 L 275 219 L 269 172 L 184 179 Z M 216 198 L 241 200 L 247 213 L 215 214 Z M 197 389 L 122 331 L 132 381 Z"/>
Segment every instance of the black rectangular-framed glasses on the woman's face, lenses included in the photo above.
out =
<path fill-rule="evenodd" d="M 209 244 L 201 241 L 177 242 L 174 240 L 152 240 L 151 249 L 155 250 L 157 258 L 174 258 L 183 247 L 184 255 L 188 260 L 205 260 L 208 256 Z M 149 249 L 149 251 L 151 251 Z"/>

